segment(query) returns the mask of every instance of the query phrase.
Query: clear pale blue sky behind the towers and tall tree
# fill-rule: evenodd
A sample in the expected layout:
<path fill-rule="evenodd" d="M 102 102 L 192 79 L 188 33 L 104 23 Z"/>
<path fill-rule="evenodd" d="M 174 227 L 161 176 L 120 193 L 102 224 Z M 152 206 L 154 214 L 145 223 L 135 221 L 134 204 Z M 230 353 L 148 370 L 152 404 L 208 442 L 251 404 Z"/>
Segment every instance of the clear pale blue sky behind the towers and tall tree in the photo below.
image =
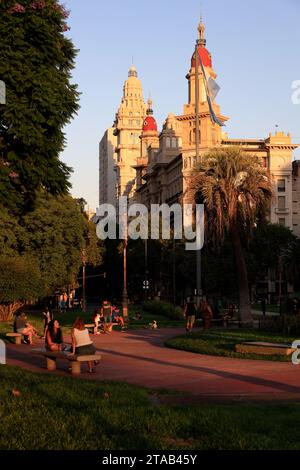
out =
<path fill-rule="evenodd" d="M 79 49 L 73 81 L 81 109 L 66 128 L 61 158 L 73 167 L 75 197 L 98 205 L 98 145 L 113 123 L 132 62 L 161 127 L 187 102 L 187 80 L 200 11 L 221 86 L 217 102 L 230 117 L 229 137 L 265 138 L 290 131 L 300 143 L 299 0 L 67 0 L 68 35 Z M 296 152 L 300 158 L 300 151 Z"/>

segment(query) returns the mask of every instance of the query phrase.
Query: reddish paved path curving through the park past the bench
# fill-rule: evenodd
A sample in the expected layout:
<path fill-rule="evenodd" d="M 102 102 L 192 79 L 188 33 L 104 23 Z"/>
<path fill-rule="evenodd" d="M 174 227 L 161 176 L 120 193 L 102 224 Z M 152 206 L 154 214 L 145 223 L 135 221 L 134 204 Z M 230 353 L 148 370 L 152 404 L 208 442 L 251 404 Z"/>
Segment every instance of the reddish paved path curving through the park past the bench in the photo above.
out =
<path fill-rule="evenodd" d="M 299 400 L 300 366 L 292 363 L 213 357 L 164 346 L 167 338 L 183 329 L 114 331 L 92 336 L 102 361 L 96 374 L 82 378 L 118 380 L 149 388 L 188 392 L 199 399 Z M 40 340 L 34 347 L 42 346 Z M 8 345 L 7 362 L 23 369 L 45 371 L 42 357 L 31 354 L 31 346 Z M 66 375 L 67 361 L 58 361 L 55 373 Z M 193 399 L 193 397 L 191 397 Z M 175 400 L 176 401 L 176 400 Z"/>

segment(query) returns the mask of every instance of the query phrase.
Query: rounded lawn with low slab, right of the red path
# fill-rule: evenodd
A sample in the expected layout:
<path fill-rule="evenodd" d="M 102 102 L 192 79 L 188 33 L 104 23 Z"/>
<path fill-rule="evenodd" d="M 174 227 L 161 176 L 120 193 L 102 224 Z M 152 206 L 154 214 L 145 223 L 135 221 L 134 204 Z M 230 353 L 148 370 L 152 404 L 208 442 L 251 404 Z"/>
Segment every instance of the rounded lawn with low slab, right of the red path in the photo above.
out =
<path fill-rule="evenodd" d="M 262 354 L 241 354 L 235 352 L 235 345 L 243 341 L 267 341 L 272 343 L 293 342 L 295 337 L 280 336 L 257 330 L 217 330 L 197 332 L 189 336 L 182 335 L 171 338 L 165 345 L 184 351 L 191 351 L 210 356 L 236 357 L 240 359 L 263 359 L 269 361 L 290 361 L 290 356 Z"/>

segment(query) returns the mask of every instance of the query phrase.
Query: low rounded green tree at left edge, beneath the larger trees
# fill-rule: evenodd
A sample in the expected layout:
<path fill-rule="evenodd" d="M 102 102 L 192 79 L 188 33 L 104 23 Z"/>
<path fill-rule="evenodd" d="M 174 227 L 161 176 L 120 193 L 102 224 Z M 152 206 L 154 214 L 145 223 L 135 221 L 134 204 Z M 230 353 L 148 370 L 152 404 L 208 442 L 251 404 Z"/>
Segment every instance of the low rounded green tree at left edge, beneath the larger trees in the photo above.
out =
<path fill-rule="evenodd" d="M 27 257 L 0 256 L 0 321 L 10 321 L 30 300 L 45 294 L 36 263 Z"/>

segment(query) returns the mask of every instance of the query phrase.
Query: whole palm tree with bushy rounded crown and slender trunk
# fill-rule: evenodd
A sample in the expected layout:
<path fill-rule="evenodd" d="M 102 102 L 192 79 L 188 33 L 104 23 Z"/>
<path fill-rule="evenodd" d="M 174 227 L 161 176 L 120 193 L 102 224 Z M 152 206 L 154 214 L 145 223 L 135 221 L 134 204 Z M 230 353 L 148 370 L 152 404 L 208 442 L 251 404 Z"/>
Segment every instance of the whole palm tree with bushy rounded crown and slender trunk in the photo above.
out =
<path fill-rule="evenodd" d="M 209 151 L 191 175 L 187 199 L 204 204 L 206 236 L 214 246 L 231 237 L 238 277 L 240 320 L 252 325 L 248 274 L 243 250 L 252 228 L 261 220 L 272 198 L 272 181 L 259 158 L 241 147 Z"/>

